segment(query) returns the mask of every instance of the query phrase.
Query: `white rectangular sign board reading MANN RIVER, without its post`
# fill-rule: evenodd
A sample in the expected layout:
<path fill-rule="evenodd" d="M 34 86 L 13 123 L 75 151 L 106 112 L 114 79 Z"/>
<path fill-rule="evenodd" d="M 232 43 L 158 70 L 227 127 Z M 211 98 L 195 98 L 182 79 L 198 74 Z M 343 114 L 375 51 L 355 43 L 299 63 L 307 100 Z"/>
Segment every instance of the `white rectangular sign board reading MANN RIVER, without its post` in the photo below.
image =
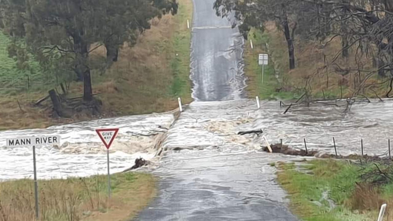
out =
<path fill-rule="evenodd" d="M 26 136 L 6 139 L 7 147 L 60 144 L 60 136 Z"/>

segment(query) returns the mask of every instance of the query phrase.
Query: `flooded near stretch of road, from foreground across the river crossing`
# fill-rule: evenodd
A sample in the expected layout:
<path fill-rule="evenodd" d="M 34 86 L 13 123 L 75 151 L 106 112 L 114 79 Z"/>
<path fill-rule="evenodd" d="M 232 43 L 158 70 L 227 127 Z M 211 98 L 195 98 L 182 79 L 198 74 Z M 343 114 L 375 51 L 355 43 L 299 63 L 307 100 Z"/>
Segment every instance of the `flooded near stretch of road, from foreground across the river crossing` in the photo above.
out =
<path fill-rule="evenodd" d="M 236 134 L 258 114 L 248 99 L 191 103 L 163 144 L 160 193 L 136 220 L 297 220 L 269 166 L 291 157 L 259 152 L 260 138 Z"/>

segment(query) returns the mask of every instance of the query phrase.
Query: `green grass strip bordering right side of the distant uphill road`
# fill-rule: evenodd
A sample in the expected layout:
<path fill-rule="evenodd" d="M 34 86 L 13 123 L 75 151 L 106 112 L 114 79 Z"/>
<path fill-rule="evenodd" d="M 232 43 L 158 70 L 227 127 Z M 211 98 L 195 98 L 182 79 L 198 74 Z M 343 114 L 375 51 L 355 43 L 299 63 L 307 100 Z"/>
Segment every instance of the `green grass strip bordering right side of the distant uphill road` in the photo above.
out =
<path fill-rule="evenodd" d="M 250 48 L 250 41 L 253 42 L 253 49 Z M 248 77 L 248 94 L 249 97 L 259 96 L 260 99 L 294 99 L 299 96 L 298 93 L 285 91 L 281 83 L 275 77 L 275 69 L 272 64 L 272 55 L 270 54 L 269 64 L 264 66 L 264 75 L 262 83 L 262 66 L 258 64 L 258 54 L 267 53 L 266 43 L 269 44 L 269 37 L 261 30 L 252 29 L 248 33 L 248 42 L 244 60 L 246 62 L 245 74 Z M 281 88 L 281 90 L 279 90 Z"/>

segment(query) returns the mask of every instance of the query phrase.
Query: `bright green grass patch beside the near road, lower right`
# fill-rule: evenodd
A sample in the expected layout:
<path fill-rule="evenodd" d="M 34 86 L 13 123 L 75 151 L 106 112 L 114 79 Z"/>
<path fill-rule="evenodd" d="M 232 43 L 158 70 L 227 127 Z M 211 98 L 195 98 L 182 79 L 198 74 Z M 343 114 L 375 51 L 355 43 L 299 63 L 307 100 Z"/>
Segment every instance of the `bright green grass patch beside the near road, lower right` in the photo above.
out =
<path fill-rule="evenodd" d="M 359 182 L 358 166 L 336 160 L 312 160 L 303 164 L 303 170 L 292 164 L 280 164 L 278 181 L 290 194 L 290 207 L 294 214 L 307 221 L 342 221 L 367 220 L 365 215 L 351 212 L 345 206 L 355 190 L 355 182 Z M 306 171 L 310 172 L 306 173 Z M 328 192 L 337 206 L 329 207 L 328 201 L 322 198 Z M 319 202 L 318 206 L 314 202 Z"/>

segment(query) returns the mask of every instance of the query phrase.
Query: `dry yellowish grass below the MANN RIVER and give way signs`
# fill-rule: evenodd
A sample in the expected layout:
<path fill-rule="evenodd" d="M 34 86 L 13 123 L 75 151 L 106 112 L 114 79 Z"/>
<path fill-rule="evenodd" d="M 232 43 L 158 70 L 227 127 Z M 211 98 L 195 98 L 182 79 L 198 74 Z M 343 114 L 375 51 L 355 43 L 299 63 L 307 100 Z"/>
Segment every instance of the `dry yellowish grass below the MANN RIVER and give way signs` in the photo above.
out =
<path fill-rule="evenodd" d="M 156 193 L 155 178 L 145 173 L 39 180 L 39 220 L 129 220 Z M 35 220 L 33 180 L 0 182 L 0 221 Z"/>

